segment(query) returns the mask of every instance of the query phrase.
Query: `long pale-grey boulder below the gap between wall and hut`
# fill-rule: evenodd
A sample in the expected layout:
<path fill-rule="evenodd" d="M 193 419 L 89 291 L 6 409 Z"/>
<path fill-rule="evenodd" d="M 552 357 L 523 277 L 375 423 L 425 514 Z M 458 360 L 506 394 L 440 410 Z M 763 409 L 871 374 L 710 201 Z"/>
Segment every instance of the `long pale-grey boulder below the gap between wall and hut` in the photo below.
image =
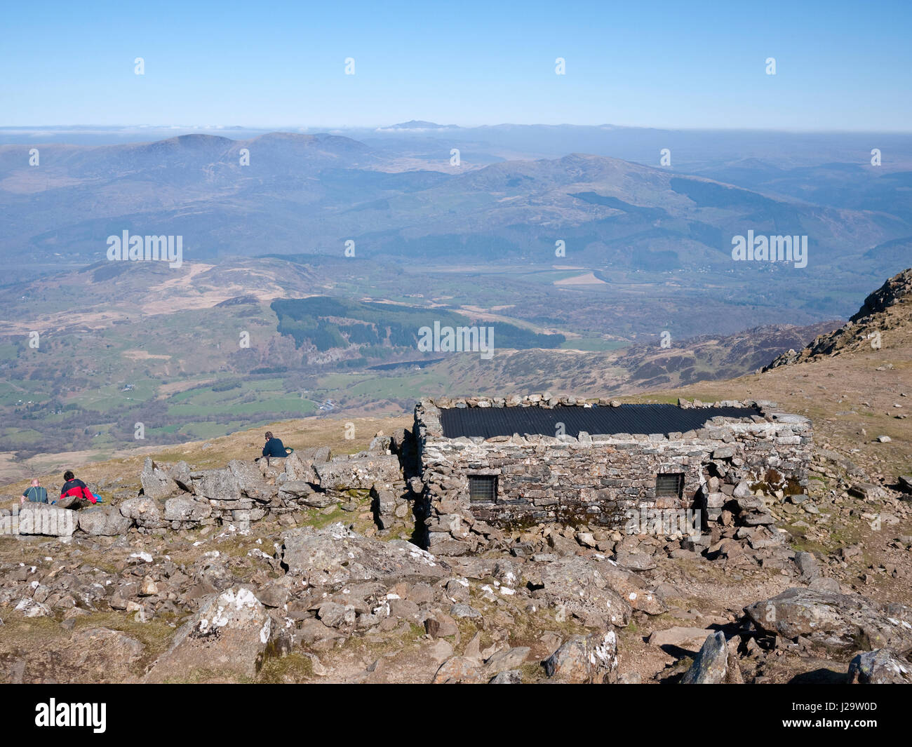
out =
<path fill-rule="evenodd" d="M 282 566 L 311 586 L 356 581 L 437 581 L 449 572 L 433 555 L 402 540 L 380 542 L 344 524 L 282 534 Z"/>

